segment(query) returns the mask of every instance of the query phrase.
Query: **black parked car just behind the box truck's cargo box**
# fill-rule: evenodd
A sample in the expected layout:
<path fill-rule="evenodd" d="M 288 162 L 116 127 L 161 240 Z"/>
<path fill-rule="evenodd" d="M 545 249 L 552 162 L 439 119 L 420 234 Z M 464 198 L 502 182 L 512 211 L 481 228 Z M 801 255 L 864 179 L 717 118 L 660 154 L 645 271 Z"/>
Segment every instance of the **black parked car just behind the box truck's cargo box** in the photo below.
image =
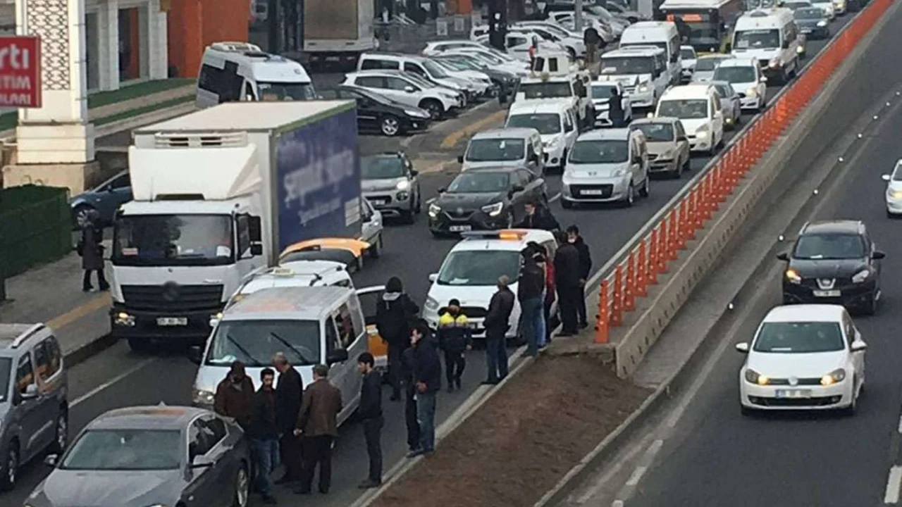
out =
<path fill-rule="evenodd" d="M 322 92 L 325 99 L 357 101 L 357 129 L 378 132 L 389 137 L 426 130 L 429 112 L 419 107 L 405 106 L 370 90 L 347 85 Z"/>

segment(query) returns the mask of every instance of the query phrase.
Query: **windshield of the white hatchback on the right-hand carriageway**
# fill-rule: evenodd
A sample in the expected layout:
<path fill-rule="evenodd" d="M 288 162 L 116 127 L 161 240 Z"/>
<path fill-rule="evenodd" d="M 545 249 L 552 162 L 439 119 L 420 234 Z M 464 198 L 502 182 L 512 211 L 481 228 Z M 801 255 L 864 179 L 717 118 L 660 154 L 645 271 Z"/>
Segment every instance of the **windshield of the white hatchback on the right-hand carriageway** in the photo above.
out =
<path fill-rule="evenodd" d="M 845 349 L 839 322 L 765 322 L 755 352 L 811 354 Z"/>

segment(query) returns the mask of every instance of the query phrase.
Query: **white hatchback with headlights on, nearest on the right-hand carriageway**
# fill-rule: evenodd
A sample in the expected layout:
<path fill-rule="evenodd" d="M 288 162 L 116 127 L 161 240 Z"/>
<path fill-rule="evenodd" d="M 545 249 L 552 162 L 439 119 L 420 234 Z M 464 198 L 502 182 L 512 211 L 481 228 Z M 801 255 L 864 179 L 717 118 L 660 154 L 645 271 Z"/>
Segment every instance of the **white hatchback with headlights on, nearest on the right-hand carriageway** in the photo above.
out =
<path fill-rule="evenodd" d="M 854 413 L 864 387 L 867 345 L 839 305 L 771 309 L 739 372 L 742 413 L 756 410 L 833 410 Z"/>

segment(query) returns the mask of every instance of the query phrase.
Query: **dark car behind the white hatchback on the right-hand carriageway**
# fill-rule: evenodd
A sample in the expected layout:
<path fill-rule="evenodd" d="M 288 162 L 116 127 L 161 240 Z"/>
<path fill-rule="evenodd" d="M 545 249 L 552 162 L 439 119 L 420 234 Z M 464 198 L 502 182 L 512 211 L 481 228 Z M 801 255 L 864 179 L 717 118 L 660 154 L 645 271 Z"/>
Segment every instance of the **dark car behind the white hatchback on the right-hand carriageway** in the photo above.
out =
<path fill-rule="evenodd" d="M 841 304 L 872 315 L 880 297 L 880 263 L 876 249 L 858 220 L 810 222 L 802 227 L 783 276 L 783 302 Z"/>

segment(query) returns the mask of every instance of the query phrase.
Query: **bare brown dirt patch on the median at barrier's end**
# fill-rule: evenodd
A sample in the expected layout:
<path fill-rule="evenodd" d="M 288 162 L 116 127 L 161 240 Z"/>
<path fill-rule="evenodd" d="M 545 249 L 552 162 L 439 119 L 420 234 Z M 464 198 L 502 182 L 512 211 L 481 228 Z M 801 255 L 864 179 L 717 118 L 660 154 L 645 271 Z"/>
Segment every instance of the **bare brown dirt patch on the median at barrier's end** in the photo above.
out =
<path fill-rule="evenodd" d="M 373 507 L 532 505 L 649 394 L 597 358 L 540 356 Z"/>

